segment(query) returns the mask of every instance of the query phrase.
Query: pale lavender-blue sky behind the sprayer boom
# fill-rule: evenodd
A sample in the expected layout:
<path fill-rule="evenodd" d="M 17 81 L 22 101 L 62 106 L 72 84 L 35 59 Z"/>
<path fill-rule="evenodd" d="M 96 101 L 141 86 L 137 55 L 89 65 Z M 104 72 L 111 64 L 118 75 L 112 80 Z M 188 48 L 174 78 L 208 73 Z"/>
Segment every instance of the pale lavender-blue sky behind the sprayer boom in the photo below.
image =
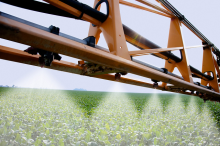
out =
<path fill-rule="evenodd" d="M 79 0 L 82 3 L 93 6 L 93 0 Z M 140 4 L 134 0 L 128 0 Z M 152 3 L 158 4 L 154 0 L 149 0 Z M 220 1 L 219 0 L 169 0 L 169 2 L 176 7 L 185 17 L 198 28 L 215 46 L 220 48 Z M 155 44 L 166 48 L 168 42 L 168 32 L 170 19 L 153 14 L 147 11 L 138 10 L 128 6 L 120 5 L 122 23 L 138 32 L 140 35 L 151 40 Z M 2 12 L 14 15 L 16 17 L 37 23 L 39 25 L 49 27 L 54 25 L 60 28 L 62 33 L 72 35 L 79 39 L 84 39 L 88 35 L 89 23 L 58 17 L 34 11 L 29 11 L 4 3 L 0 3 L 0 10 Z M 104 11 L 104 10 L 102 10 Z M 187 28 L 183 26 L 183 34 L 185 46 L 201 45 L 201 41 L 192 34 Z M 25 50 L 28 46 L 18 44 L 15 42 L 0 39 L 0 44 Z M 127 43 L 128 44 L 128 43 Z M 103 36 L 98 45 L 107 48 Z M 137 48 L 128 44 L 129 50 L 138 50 Z M 178 54 L 178 52 L 175 52 Z M 64 55 L 62 60 L 77 63 L 78 59 L 73 59 Z M 202 67 L 202 48 L 195 48 L 187 50 L 188 62 L 193 67 L 201 70 Z M 164 67 L 164 60 L 155 58 L 154 56 L 136 57 L 141 61 L 145 61 L 157 67 Z M 157 92 L 153 89 L 144 87 L 128 85 L 123 83 L 115 83 L 113 81 L 106 81 L 91 77 L 70 74 L 66 72 L 40 68 L 36 66 L 6 61 L 0 59 L 0 85 L 15 85 L 18 87 L 28 88 L 48 88 L 48 89 L 65 89 L 73 90 L 75 88 L 83 88 L 90 91 L 122 91 L 122 92 L 139 92 L 150 93 Z M 175 69 L 176 74 L 179 74 Z M 127 77 L 150 81 L 147 78 L 128 74 Z M 198 81 L 198 80 L 194 80 Z M 116 88 L 117 87 L 117 88 Z M 163 92 L 165 93 L 165 92 Z"/>

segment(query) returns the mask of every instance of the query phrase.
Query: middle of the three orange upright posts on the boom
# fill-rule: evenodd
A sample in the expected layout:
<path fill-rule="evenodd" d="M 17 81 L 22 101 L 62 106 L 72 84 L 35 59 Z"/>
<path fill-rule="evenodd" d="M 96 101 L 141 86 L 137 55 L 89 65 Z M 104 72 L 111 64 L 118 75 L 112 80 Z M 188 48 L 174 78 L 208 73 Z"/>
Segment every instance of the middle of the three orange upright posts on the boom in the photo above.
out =
<path fill-rule="evenodd" d="M 177 67 L 181 75 L 183 76 L 185 81 L 188 82 L 193 82 L 192 80 L 192 74 L 189 68 L 189 64 L 187 61 L 187 56 L 186 56 L 186 50 L 185 50 L 185 45 L 184 45 L 184 40 L 183 40 L 183 35 L 182 35 L 182 30 L 181 30 L 181 22 L 179 21 L 178 18 L 171 18 L 170 22 L 170 32 L 169 32 L 169 39 L 168 39 L 168 48 L 171 47 L 183 47 L 181 50 L 181 55 L 182 55 L 182 61 L 178 63 L 169 63 L 166 61 L 165 63 L 165 68 L 169 72 L 173 72 L 174 68 Z M 162 84 L 163 86 L 166 86 L 166 83 Z"/>

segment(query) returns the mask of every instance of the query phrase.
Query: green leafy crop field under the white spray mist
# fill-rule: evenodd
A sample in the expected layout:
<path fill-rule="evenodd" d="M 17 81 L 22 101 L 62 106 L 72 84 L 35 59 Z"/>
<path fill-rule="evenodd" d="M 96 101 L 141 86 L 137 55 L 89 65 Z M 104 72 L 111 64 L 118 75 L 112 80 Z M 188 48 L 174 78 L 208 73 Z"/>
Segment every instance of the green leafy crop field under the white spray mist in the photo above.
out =
<path fill-rule="evenodd" d="M 0 145 L 220 145 L 220 104 L 178 94 L 0 88 Z"/>

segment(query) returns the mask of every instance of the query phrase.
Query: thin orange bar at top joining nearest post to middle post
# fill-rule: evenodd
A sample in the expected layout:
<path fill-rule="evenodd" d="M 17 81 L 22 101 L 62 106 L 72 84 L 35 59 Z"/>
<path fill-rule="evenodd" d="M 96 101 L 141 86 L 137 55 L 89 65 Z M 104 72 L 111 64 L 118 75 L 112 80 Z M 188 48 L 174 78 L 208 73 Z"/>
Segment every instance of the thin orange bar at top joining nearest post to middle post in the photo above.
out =
<path fill-rule="evenodd" d="M 155 14 L 158 14 L 158 15 L 161 15 L 161 16 L 165 16 L 165 17 L 168 17 L 168 18 L 173 17 L 173 15 L 171 15 L 171 14 L 164 14 L 164 13 L 161 13 L 161 12 L 149 9 L 149 8 L 145 8 L 145 7 L 142 7 L 142 6 L 139 6 L 139 5 L 124 1 L 124 0 L 119 0 L 119 3 L 123 4 L 123 5 L 126 5 L 126 6 L 133 7 L 133 8 L 137 8 L 137 9 L 145 10 L 145 11 L 148 11 L 148 12 L 152 12 L 152 13 L 155 13 Z"/>

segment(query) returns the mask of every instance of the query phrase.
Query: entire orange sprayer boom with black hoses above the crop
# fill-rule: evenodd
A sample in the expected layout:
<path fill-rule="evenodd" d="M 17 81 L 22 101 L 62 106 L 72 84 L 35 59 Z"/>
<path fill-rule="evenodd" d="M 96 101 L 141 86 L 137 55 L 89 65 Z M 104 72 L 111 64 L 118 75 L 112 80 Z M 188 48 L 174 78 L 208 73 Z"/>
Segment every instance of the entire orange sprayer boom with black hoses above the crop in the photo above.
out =
<path fill-rule="evenodd" d="M 95 0 L 94 8 L 77 0 L 44 1 L 47 3 L 34 0 L 1 0 L 1 2 L 29 10 L 90 22 L 88 37 L 81 40 L 61 33 L 58 27 L 46 28 L 1 12 L 0 37 L 30 46 L 24 51 L 0 46 L 1 59 L 199 96 L 204 101 L 220 101 L 218 84 L 220 51 L 167 0 L 158 0 L 162 7 L 146 0 L 136 0 L 153 9 L 124 0 Z M 100 12 L 102 3 L 106 4 L 106 14 Z M 167 48 L 161 48 L 122 24 L 119 4 L 171 19 Z M 201 39 L 200 45 L 190 47 L 184 45 L 182 24 Z M 107 49 L 97 45 L 101 33 L 108 44 Z M 126 42 L 139 50 L 129 51 Z M 202 71 L 190 66 L 186 58 L 186 49 L 196 47 L 203 47 Z M 175 50 L 180 51 L 181 57 L 171 53 Z M 78 64 L 62 61 L 60 54 L 80 60 Z M 135 56 L 149 54 L 164 59 L 164 68 L 134 59 Z M 172 73 L 175 67 L 178 68 L 181 76 Z M 115 75 L 110 73 L 115 73 Z M 152 83 L 121 77 L 127 73 L 150 78 Z M 193 78 L 200 78 L 201 82 L 194 82 Z M 158 82 L 162 82 L 162 84 L 158 84 Z"/>

